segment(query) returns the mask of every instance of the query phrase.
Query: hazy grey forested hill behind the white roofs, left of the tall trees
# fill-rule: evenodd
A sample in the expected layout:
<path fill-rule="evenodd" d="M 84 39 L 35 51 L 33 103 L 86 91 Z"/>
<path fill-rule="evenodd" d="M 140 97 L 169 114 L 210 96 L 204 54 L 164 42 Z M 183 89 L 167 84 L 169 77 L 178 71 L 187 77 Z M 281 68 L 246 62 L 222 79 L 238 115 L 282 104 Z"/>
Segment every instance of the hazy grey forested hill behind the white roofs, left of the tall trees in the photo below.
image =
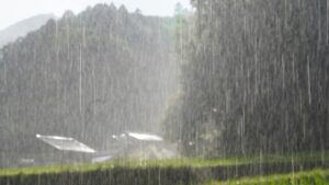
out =
<path fill-rule="evenodd" d="M 173 26 L 171 18 L 98 4 L 5 45 L 0 152 L 42 152 L 36 134 L 104 150 L 114 134 L 158 131 L 177 89 Z"/>

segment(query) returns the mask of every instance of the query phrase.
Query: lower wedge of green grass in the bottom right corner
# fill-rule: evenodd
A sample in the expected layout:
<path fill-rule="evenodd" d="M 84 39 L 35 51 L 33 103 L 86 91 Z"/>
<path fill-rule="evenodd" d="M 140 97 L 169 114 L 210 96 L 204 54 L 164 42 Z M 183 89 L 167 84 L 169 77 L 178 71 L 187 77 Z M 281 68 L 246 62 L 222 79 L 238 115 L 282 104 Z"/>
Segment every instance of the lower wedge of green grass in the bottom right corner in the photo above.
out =
<path fill-rule="evenodd" d="M 329 185 L 329 170 L 314 170 L 284 175 L 246 177 L 226 182 L 209 182 L 205 185 Z"/>

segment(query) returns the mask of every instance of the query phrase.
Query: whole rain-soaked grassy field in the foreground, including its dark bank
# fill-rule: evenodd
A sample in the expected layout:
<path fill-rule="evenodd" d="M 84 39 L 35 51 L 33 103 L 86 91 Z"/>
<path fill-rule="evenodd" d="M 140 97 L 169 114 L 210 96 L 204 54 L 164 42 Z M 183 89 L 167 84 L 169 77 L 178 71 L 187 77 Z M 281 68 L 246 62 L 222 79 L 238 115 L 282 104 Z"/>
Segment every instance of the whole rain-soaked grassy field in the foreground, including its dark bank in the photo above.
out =
<path fill-rule="evenodd" d="M 34 181 L 54 184 L 53 178 L 69 178 L 78 181 L 83 176 L 90 182 L 98 178 L 109 177 L 114 184 L 129 184 L 136 178 L 137 184 L 200 184 L 209 180 L 208 184 L 287 184 L 297 185 L 300 182 L 315 182 L 316 184 L 328 183 L 328 170 L 316 170 L 288 175 L 272 175 L 218 182 L 218 180 L 231 180 L 259 174 L 288 173 L 292 169 L 297 171 L 314 170 L 315 167 L 328 167 L 329 152 L 304 152 L 298 154 L 264 154 L 259 157 L 236 157 L 226 159 L 173 159 L 173 160 L 113 160 L 99 164 L 67 164 L 53 166 L 35 166 L 25 169 L 0 170 L 1 181 L 8 185 L 18 183 L 30 185 Z M 303 165 L 303 164 L 307 165 Z M 326 163 L 326 165 L 324 165 Z M 300 165 L 299 165 L 300 164 Z M 311 164 L 311 165 L 309 165 Z M 294 167 L 292 167 L 294 165 Z M 35 176 L 39 176 L 35 178 Z M 160 178 L 161 177 L 161 178 Z M 164 178 L 164 180 L 163 180 Z M 169 181 L 168 181 L 168 180 Z M 172 181 L 171 181 L 172 178 Z M 31 183 L 25 183 L 29 180 Z M 49 183 L 48 181 L 52 180 Z M 269 181 L 268 181 L 269 180 Z M 8 183 L 12 182 L 12 183 Z M 47 184 L 46 183 L 46 184 Z M 55 181 L 56 184 L 56 181 Z M 298 185 L 299 185 L 298 184 Z M 305 183 L 304 183 L 305 184 Z M 300 185 L 304 185 L 300 184 Z"/>

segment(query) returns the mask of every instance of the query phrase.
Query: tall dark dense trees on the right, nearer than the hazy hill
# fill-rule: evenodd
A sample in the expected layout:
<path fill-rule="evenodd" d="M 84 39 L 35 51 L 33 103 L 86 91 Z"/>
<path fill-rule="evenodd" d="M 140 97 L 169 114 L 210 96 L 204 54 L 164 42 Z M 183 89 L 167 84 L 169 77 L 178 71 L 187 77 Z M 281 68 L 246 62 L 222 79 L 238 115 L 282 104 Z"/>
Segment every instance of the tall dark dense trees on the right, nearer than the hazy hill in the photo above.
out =
<path fill-rule="evenodd" d="M 328 1 L 192 4 L 168 138 L 198 157 L 328 150 Z"/>

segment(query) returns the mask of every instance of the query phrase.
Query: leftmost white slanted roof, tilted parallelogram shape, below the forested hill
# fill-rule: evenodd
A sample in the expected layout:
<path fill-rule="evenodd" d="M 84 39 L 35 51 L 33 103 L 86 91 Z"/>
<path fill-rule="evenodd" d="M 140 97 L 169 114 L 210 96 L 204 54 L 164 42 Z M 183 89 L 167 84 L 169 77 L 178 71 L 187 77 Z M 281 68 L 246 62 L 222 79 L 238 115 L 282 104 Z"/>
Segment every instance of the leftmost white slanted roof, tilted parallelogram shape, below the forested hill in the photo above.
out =
<path fill-rule="evenodd" d="M 36 135 L 39 140 L 53 146 L 58 150 L 75 151 L 82 153 L 95 153 L 95 150 L 86 146 L 82 142 L 77 141 L 73 138 L 60 137 L 60 136 L 43 136 Z"/>

